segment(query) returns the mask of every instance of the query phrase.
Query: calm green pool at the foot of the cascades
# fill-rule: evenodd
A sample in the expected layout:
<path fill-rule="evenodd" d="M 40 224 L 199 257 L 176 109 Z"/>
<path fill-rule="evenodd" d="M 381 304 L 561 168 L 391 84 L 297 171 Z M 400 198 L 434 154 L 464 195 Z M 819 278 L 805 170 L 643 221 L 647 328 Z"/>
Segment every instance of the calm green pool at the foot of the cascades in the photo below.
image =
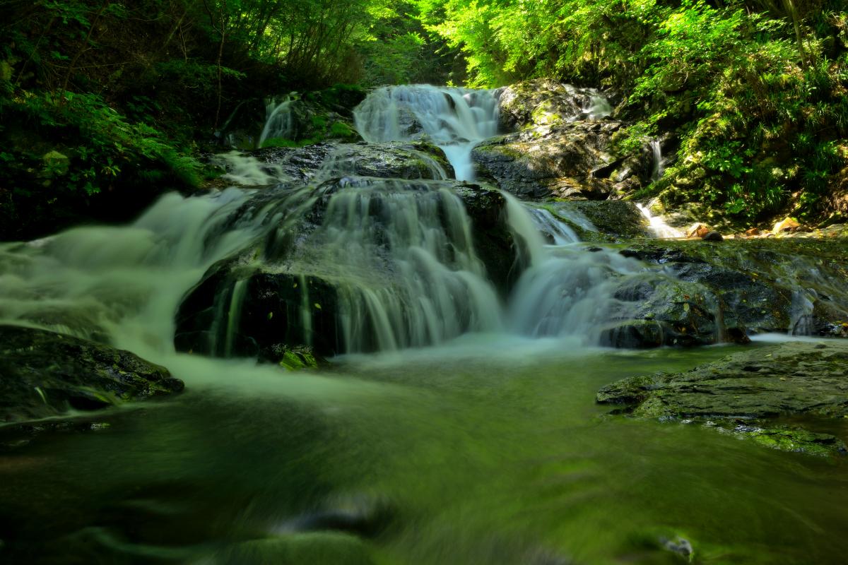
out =
<path fill-rule="evenodd" d="M 476 336 L 298 374 L 172 357 L 181 396 L 0 451 L 0 562 L 845 562 L 844 460 L 594 402 L 733 351 Z"/>

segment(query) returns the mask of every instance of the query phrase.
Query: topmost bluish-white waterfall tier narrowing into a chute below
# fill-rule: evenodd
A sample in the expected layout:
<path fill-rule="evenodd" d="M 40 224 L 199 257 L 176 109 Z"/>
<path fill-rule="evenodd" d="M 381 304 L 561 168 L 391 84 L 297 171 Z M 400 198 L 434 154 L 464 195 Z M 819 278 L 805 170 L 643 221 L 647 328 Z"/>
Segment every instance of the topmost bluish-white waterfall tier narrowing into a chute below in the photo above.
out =
<path fill-rule="evenodd" d="M 354 111 L 365 141 L 407 141 L 427 134 L 442 148 L 457 180 L 474 180 L 471 150 L 498 133 L 492 91 L 429 85 L 385 86 Z"/>

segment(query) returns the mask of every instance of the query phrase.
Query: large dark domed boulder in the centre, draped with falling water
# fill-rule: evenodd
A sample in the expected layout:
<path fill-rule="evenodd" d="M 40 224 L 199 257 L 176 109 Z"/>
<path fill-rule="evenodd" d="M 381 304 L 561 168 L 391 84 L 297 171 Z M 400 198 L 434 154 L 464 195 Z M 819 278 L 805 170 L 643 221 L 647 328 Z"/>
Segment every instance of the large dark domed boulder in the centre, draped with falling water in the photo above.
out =
<path fill-rule="evenodd" d="M 496 292 L 520 274 L 506 204 L 457 181 L 345 177 L 259 191 L 233 221 L 264 213 L 274 223 L 187 294 L 176 347 L 278 363 L 304 346 L 375 351 L 485 327 Z M 480 292 L 491 293 L 488 311 L 472 303 Z"/>

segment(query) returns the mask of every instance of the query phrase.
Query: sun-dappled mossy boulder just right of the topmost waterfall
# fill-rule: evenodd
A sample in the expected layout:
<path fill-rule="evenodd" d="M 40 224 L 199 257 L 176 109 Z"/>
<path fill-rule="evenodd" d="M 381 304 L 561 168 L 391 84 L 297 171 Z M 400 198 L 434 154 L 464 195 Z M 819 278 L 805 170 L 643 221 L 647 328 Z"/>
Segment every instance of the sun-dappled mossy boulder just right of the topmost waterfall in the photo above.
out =
<path fill-rule="evenodd" d="M 597 91 L 539 79 L 495 95 L 508 133 L 472 152 L 480 178 L 530 200 L 617 198 L 653 179 L 654 151 L 616 148 L 624 124 L 609 118 L 611 105 Z"/>

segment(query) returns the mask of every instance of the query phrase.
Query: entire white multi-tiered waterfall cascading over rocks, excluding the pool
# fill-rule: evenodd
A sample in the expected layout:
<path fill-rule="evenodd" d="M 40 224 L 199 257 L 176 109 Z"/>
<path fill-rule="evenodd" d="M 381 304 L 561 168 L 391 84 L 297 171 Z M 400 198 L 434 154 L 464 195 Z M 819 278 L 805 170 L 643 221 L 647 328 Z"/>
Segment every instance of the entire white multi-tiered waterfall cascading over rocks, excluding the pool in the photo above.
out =
<path fill-rule="evenodd" d="M 285 104 L 269 107 L 265 136 L 285 126 Z M 592 106 L 605 110 L 601 102 Z M 371 143 L 427 134 L 448 154 L 457 179 L 468 180 L 471 149 L 496 133 L 498 108 L 490 91 L 396 86 L 373 92 L 355 116 Z M 561 220 L 594 230 L 579 214 L 504 194 L 521 276 L 509 296 L 500 296 L 455 182 L 438 161 L 410 149 L 426 163 L 421 176 L 429 179 L 364 177 L 355 174 L 352 147 L 338 145 L 300 186 L 282 169 L 233 152 L 219 156 L 241 167 L 232 180 L 275 186 L 167 195 L 124 228 L 88 227 L 4 245 L 0 319 L 111 341 L 155 359 L 172 351 L 174 313 L 187 291 L 204 273 L 214 274 L 216 263 L 233 261 L 238 268 L 208 305 L 216 312 L 209 351 L 226 357 L 243 354 L 245 324 L 255 323 L 248 303 L 255 274 L 289 281 L 298 343 L 313 344 L 315 332 L 334 319 L 338 352 L 505 330 L 593 340 L 601 324 L 622 316 L 616 282 L 644 265 L 613 250 L 584 251 Z M 333 289 L 332 306 L 321 305 L 321 288 Z"/>

